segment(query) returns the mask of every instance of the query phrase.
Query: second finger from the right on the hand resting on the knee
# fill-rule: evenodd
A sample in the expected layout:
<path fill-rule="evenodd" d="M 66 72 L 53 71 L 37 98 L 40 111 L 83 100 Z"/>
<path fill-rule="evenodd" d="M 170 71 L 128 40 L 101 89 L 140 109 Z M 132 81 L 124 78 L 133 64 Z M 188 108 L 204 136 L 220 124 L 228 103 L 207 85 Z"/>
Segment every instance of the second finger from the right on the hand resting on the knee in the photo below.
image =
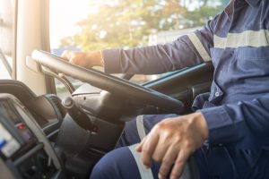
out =
<path fill-rule="evenodd" d="M 159 179 L 166 178 L 166 176 L 169 174 L 169 171 L 171 169 L 171 166 L 173 165 L 174 161 L 176 160 L 178 156 L 178 150 L 175 149 L 173 146 L 171 146 L 164 157 L 161 160 L 161 167 L 159 170 Z"/>

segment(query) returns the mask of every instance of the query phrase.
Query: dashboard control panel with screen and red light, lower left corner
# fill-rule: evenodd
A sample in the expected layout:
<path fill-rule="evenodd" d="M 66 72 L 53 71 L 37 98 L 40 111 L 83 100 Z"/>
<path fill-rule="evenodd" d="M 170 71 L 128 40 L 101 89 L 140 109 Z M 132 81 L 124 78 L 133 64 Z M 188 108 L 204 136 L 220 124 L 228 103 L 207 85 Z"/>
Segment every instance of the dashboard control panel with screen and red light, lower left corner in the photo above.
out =
<path fill-rule="evenodd" d="M 22 103 L 0 94 L 0 163 L 13 178 L 59 178 L 61 165 L 46 135 Z"/>

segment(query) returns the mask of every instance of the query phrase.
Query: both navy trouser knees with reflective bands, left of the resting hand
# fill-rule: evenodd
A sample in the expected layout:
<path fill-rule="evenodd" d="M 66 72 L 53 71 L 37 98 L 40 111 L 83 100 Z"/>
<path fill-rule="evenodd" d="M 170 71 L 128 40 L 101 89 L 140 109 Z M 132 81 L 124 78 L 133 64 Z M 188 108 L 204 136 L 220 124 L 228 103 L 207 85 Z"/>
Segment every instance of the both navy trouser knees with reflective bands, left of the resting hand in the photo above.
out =
<path fill-rule="evenodd" d="M 139 115 L 127 122 L 125 130 L 117 142 L 116 149 L 108 152 L 94 166 L 91 179 L 95 178 L 158 178 L 160 165 L 153 163 L 146 169 L 140 160 L 140 154 L 135 151 L 135 145 L 165 118 L 177 115 Z"/>

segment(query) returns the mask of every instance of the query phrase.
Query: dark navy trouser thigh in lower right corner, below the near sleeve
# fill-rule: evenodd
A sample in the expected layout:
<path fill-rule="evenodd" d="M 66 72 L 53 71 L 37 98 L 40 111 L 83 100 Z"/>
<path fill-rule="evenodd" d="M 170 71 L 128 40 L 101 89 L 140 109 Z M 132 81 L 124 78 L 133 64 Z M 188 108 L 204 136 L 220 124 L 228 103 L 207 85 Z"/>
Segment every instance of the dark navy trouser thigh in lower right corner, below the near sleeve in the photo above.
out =
<path fill-rule="evenodd" d="M 195 153 L 201 178 L 269 178 L 269 151 L 230 146 L 202 147 Z"/>

